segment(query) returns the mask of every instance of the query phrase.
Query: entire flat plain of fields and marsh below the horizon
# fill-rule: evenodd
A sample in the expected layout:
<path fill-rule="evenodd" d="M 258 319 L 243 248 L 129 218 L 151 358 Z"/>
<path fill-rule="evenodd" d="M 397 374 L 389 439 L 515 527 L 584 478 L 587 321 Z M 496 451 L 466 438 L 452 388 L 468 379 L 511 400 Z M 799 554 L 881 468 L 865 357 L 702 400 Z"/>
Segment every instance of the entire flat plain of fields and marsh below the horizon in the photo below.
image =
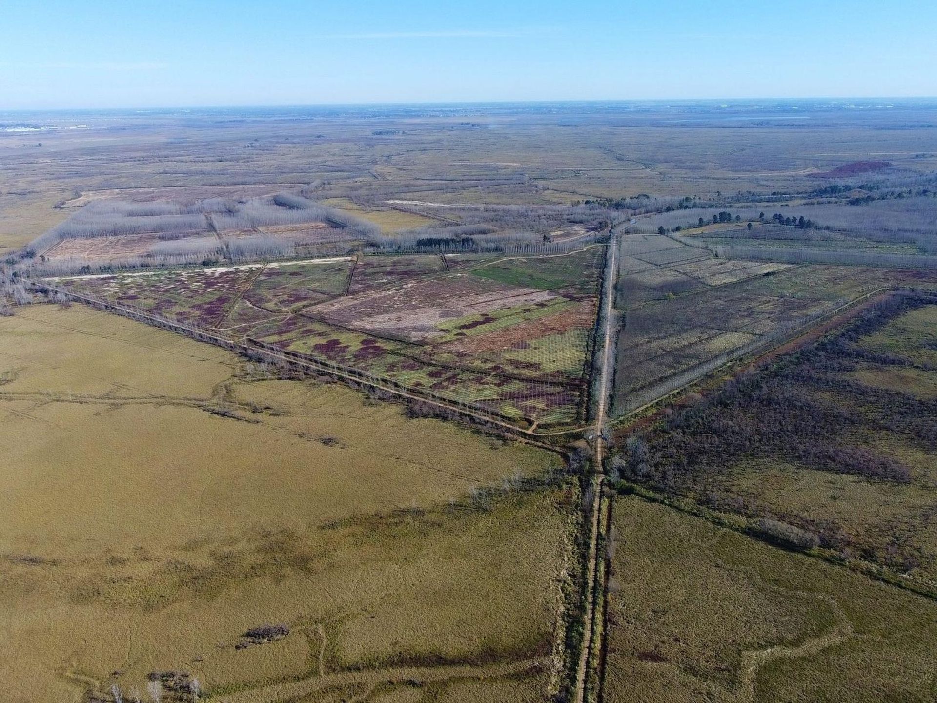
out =
<path fill-rule="evenodd" d="M 934 700 L 935 111 L 0 114 L 0 700 Z"/>

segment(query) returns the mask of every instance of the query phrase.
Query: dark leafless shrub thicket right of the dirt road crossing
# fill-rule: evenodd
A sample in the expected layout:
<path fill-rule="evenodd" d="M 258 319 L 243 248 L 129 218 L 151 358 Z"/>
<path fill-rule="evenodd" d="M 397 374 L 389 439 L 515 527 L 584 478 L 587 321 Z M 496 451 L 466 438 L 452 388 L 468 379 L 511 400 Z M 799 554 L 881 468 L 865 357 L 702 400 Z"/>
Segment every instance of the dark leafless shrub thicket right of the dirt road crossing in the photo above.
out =
<path fill-rule="evenodd" d="M 896 293 L 840 334 L 743 374 L 711 395 L 690 399 L 649 430 L 632 434 L 615 461 L 616 471 L 625 480 L 670 495 L 764 517 L 755 531 L 788 546 L 809 548 L 815 541 L 789 525 L 779 527 L 775 518 L 793 519 L 818 533 L 823 546 L 859 543 L 866 556 L 880 554 L 878 543 L 887 538 L 890 564 L 914 568 L 920 557 L 900 535 L 848 535 L 836 521 L 806 513 L 774 515 L 764 501 L 739 496 L 728 484 L 737 467 L 752 459 L 780 460 L 890 486 L 914 482 L 913 468 L 875 441 L 896 438 L 921 452 L 937 452 L 937 399 L 872 387 L 849 374 L 870 365 L 937 370 L 863 343 L 896 317 L 935 303 L 937 296 L 931 294 Z"/>

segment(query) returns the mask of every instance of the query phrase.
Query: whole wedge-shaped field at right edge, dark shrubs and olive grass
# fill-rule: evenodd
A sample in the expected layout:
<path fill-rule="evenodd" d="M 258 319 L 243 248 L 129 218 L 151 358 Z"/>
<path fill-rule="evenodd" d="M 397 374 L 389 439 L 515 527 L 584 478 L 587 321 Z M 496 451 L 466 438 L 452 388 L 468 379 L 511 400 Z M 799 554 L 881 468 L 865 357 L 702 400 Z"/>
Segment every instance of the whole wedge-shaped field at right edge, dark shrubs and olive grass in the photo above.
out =
<path fill-rule="evenodd" d="M 628 471 L 937 590 L 935 330 L 937 296 L 895 293 L 688 403 L 642 435 Z"/>

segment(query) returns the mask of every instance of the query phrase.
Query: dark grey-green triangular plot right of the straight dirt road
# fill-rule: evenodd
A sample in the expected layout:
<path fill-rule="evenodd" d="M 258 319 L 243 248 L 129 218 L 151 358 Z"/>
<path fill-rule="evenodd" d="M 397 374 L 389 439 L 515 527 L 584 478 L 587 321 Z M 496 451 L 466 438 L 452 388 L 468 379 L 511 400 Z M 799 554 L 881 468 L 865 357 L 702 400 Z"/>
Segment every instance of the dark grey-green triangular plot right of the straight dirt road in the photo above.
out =
<path fill-rule="evenodd" d="M 731 267 L 735 262 L 726 263 Z M 845 266 L 756 264 L 733 270 L 718 264 L 706 260 L 696 265 L 706 266 L 717 281 L 736 282 L 706 286 L 698 276 L 689 291 L 663 300 L 647 300 L 642 279 L 633 282 L 656 276 L 656 271 L 622 279 L 618 302 L 625 310 L 625 326 L 618 337 L 615 411 L 639 408 L 733 355 L 902 277 L 900 272 Z M 753 277 L 738 281 L 741 275 Z"/>

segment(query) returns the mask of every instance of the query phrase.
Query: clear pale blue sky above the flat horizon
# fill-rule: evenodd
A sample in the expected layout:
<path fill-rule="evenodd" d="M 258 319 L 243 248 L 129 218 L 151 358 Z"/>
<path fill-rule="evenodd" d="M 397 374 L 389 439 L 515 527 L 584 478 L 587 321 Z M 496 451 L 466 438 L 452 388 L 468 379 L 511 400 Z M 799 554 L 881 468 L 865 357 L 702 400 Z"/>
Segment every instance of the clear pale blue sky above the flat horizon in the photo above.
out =
<path fill-rule="evenodd" d="M 0 0 L 0 110 L 937 96 L 929 0 Z"/>

